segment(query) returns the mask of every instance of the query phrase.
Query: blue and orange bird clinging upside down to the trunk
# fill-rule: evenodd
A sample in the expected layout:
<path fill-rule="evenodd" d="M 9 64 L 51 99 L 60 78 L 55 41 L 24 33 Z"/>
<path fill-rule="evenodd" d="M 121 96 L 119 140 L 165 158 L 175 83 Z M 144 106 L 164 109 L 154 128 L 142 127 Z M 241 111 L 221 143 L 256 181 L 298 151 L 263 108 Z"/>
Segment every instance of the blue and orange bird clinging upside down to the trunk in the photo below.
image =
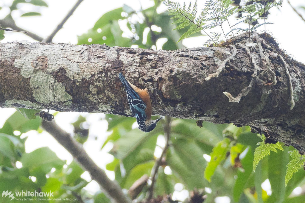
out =
<path fill-rule="evenodd" d="M 119 73 L 119 78 L 126 90 L 128 104 L 132 116 L 136 118 L 139 124 L 139 129 L 146 133 L 152 131 L 162 117 L 156 120 L 151 119 L 152 105 L 150 103 L 148 90 L 146 88 L 144 90 L 140 89 L 131 84 L 125 79 L 122 73 Z"/>

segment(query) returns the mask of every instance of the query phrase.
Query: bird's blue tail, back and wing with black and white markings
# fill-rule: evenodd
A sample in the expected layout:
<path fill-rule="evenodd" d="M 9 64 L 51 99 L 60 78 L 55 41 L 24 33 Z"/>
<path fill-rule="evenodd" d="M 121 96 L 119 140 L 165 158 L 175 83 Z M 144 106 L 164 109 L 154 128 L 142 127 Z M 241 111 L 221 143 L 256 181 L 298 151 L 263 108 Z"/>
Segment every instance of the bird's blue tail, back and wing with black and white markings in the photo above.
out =
<path fill-rule="evenodd" d="M 141 127 L 142 125 L 145 125 L 144 122 L 146 121 L 146 114 L 145 114 L 146 104 L 140 98 L 138 93 L 136 93 L 135 90 L 130 86 L 130 84 L 122 75 L 122 73 L 119 73 L 119 78 L 126 90 L 128 104 L 132 112 L 132 116 L 136 118 L 139 126 Z"/>

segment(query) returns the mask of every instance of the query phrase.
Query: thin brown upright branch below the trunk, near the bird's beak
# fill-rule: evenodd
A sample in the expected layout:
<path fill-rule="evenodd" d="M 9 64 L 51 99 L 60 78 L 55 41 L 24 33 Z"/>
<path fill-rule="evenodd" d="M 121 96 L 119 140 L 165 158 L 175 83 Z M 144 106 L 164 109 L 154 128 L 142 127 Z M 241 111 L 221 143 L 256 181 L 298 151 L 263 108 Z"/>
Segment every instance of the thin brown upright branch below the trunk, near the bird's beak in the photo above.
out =
<path fill-rule="evenodd" d="M 150 187 L 148 189 L 147 200 L 150 200 L 152 198 L 153 189 L 154 189 L 154 185 L 155 185 L 155 182 L 156 182 L 156 175 L 158 173 L 159 166 L 162 163 L 162 158 L 166 154 L 168 146 L 169 146 L 169 141 L 170 141 L 170 121 L 171 121 L 170 116 L 165 116 L 165 126 L 164 126 L 164 135 L 165 135 L 165 139 L 166 139 L 165 140 L 165 146 L 163 148 L 161 156 L 158 158 L 158 160 L 156 160 L 156 163 L 155 163 L 155 165 L 152 168 L 152 171 L 151 171 L 151 174 L 150 174 L 150 177 L 152 179 L 151 180 L 152 183 L 151 183 L 151 185 L 150 185 Z"/>

